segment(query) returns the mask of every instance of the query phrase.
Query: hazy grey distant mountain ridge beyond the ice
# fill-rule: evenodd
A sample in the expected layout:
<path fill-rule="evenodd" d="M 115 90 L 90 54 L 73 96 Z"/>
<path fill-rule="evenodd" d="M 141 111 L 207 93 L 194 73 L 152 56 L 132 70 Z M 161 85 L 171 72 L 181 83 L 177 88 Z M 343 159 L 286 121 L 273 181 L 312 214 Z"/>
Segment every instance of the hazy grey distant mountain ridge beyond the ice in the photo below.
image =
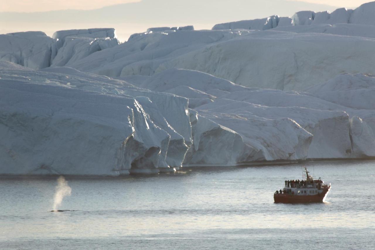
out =
<path fill-rule="evenodd" d="M 95 10 L 62 10 L 49 12 L 0 12 L 0 22 L 51 23 L 219 23 L 241 19 L 262 18 L 278 14 L 291 16 L 300 10 L 333 11 L 337 7 L 285 0 L 191 0 L 176 4 L 173 0 L 143 0 L 136 3 L 107 6 Z"/>

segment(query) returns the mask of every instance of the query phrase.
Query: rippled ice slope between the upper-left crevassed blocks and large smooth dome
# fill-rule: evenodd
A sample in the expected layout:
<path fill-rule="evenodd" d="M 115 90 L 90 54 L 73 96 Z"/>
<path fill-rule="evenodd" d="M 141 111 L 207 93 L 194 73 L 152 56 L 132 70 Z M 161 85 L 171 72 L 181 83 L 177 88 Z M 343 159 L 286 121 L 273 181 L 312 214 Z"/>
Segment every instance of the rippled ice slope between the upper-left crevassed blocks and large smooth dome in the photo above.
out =
<path fill-rule="evenodd" d="M 172 30 L 144 33 L 114 48 L 77 60 L 69 66 L 80 71 L 110 77 L 153 75 L 163 62 L 245 33 L 249 31 L 181 30 L 176 32 Z"/>

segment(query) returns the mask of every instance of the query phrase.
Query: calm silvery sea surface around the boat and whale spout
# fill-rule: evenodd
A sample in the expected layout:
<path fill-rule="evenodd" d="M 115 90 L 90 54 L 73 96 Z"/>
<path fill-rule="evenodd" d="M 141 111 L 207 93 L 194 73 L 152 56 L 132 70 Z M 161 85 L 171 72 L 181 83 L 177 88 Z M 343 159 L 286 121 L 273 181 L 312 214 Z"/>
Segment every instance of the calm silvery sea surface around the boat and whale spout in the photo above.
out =
<path fill-rule="evenodd" d="M 325 203 L 273 203 L 301 165 L 184 168 L 174 174 L 0 177 L 0 249 L 375 249 L 375 161 L 313 162 Z"/>

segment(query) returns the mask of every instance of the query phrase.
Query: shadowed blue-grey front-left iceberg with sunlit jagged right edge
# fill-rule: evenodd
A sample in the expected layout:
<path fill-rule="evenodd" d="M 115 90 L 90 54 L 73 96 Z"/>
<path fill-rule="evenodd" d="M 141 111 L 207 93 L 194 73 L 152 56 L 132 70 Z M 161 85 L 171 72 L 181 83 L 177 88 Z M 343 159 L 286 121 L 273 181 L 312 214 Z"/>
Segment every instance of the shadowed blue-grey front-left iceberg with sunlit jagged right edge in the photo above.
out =
<path fill-rule="evenodd" d="M 170 134 L 145 112 L 142 98 L 119 92 L 136 88 L 88 74 L 83 78 L 3 70 L 1 75 L 2 174 L 119 175 L 173 170 L 166 162 Z M 134 95 L 144 92 L 140 89 Z M 154 95 L 154 99 L 184 99 Z M 189 119 L 186 109 L 187 101 L 174 104 L 175 113 Z M 186 151 L 187 147 L 180 147 L 183 156 Z M 181 166 L 183 156 L 176 165 Z"/>

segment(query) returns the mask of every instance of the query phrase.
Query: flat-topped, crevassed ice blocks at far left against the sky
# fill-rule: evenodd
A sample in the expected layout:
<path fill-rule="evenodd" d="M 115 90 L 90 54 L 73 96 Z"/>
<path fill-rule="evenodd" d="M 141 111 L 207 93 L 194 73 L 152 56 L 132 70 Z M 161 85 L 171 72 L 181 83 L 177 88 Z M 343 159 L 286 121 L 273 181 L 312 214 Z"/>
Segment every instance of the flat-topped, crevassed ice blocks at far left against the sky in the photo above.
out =
<path fill-rule="evenodd" d="M 52 38 L 43 32 L 9 33 L 0 35 L 0 60 L 31 69 L 65 66 L 118 44 L 114 29 L 60 30 Z"/>

